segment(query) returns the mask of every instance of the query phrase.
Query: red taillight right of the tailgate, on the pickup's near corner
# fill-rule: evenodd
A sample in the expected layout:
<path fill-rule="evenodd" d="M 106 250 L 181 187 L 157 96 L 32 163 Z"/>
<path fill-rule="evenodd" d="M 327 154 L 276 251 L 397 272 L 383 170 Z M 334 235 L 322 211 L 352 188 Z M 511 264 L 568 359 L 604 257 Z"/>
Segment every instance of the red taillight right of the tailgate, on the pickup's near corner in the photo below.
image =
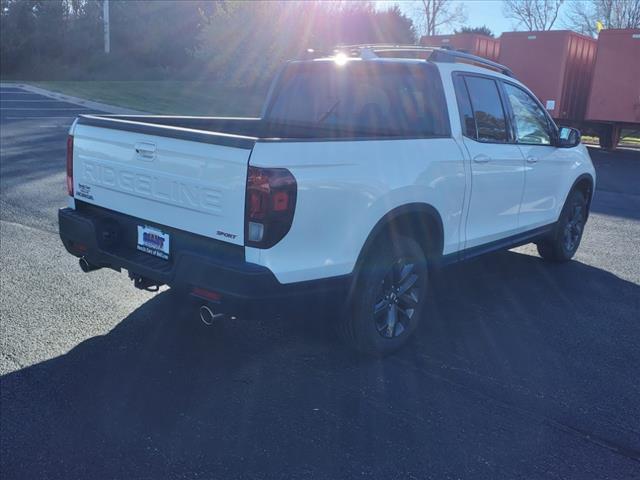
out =
<path fill-rule="evenodd" d="M 293 222 L 298 186 L 286 168 L 249 167 L 245 205 L 245 244 L 270 248 Z"/>

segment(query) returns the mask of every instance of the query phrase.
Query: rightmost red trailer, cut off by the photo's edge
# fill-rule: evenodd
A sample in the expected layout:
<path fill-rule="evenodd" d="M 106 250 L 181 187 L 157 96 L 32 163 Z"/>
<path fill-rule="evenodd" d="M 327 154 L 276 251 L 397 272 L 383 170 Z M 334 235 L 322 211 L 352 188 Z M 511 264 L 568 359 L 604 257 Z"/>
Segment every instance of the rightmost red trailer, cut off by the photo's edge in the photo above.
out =
<path fill-rule="evenodd" d="M 600 32 L 586 120 L 604 148 L 623 128 L 640 130 L 640 29 Z"/>

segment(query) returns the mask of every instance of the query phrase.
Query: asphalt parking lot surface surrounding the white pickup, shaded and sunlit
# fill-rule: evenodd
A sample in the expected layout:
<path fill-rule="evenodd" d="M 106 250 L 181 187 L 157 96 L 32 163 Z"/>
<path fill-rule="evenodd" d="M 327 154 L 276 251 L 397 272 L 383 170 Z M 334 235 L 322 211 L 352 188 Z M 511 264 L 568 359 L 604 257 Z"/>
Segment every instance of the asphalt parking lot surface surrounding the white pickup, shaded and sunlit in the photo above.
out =
<path fill-rule="evenodd" d="M 575 261 L 452 267 L 417 339 L 343 349 L 317 305 L 206 328 L 57 236 L 86 109 L 2 88 L 3 478 L 640 477 L 640 152 L 591 150 Z"/>

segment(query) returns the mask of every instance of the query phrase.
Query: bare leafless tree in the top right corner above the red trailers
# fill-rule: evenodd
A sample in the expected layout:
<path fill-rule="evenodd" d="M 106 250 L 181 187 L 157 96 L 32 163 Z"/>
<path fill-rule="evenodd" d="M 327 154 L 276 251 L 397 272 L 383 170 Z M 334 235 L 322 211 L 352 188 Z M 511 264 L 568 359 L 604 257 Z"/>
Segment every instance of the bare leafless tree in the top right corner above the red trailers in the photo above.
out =
<path fill-rule="evenodd" d="M 583 0 L 569 3 L 564 25 L 585 35 L 603 28 L 640 28 L 640 0 Z"/>

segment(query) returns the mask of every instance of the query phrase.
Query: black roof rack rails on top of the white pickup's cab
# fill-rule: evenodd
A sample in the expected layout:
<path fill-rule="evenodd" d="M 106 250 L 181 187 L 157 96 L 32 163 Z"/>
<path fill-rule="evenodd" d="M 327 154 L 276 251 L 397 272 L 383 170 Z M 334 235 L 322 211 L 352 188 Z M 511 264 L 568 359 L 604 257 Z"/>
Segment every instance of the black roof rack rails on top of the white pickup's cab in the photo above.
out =
<path fill-rule="evenodd" d="M 429 53 L 429 56 L 426 59 L 431 62 L 471 63 L 480 67 L 496 70 L 508 77 L 514 77 L 513 72 L 508 67 L 505 67 L 500 63 L 465 51 L 452 50 L 451 48 L 372 43 L 361 45 L 338 45 L 334 51 L 341 51 L 351 56 L 360 56 L 363 58 L 375 58 L 378 56 L 378 53 L 384 54 L 386 52 L 425 52 Z"/>

